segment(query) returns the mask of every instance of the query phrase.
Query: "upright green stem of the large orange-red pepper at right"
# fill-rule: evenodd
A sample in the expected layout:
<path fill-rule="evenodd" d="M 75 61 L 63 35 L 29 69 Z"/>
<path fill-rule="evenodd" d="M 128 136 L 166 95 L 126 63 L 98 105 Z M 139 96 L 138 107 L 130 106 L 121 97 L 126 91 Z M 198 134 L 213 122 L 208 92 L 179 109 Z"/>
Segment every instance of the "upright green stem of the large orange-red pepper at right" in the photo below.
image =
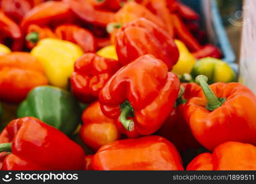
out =
<path fill-rule="evenodd" d="M 198 85 L 201 86 L 204 95 L 206 96 L 206 99 L 208 100 L 208 104 L 206 109 L 213 111 L 220 107 L 223 102 L 225 102 L 225 98 L 217 98 L 211 88 L 208 85 L 208 77 L 205 75 L 198 75 L 195 79 L 195 82 L 198 83 Z"/>

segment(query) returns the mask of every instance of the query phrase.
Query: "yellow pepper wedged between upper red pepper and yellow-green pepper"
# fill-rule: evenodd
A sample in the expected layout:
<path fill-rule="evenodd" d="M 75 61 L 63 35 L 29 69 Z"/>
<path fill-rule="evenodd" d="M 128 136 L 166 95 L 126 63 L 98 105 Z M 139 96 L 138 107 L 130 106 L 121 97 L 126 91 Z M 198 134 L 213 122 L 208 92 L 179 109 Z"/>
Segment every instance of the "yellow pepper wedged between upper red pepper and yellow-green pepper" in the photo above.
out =
<path fill-rule="evenodd" d="M 180 40 L 175 40 L 175 43 L 179 49 L 179 60 L 174 65 L 172 72 L 177 75 L 190 74 L 196 63 L 196 58 Z"/>

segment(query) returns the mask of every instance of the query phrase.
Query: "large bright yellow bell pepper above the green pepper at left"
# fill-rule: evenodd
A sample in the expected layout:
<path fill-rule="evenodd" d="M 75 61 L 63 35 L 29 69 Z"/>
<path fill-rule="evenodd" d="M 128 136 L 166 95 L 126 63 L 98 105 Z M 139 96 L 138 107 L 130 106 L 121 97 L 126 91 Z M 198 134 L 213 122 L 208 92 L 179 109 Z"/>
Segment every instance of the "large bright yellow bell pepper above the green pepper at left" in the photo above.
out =
<path fill-rule="evenodd" d="M 31 55 L 41 61 L 52 85 L 67 88 L 74 63 L 83 55 L 83 50 L 71 42 L 47 38 L 37 43 L 31 50 Z"/>

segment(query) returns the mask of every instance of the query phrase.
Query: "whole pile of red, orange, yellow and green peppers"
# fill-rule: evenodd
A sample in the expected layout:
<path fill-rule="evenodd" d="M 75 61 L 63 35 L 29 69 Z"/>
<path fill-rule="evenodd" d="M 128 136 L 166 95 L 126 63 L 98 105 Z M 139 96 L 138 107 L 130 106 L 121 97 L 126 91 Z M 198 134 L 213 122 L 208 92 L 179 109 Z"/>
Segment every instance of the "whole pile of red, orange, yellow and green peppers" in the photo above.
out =
<path fill-rule="evenodd" d="M 256 169 L 256 96 L 182 2 L 0 11 L 1 170 Z"/>

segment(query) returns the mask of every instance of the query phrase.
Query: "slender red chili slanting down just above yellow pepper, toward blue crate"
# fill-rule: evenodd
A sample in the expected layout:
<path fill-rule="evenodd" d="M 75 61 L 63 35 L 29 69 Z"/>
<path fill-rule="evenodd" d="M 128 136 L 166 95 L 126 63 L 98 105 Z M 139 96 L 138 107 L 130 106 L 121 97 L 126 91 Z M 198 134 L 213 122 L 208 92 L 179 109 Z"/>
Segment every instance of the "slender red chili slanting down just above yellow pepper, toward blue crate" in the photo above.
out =
<path fill-rule="evenodd" d="M 184 25 L 180 17 L 175 13 L 171 13 L 171 17 L 173 20 L 176 37 L 182 40 L 182 42 L 184 42 L 184 44 L 187 45 L 190 51 L 195 52 L 200 50 L 202 48 L 201 45 L 188 31 L 187 27 Z"/>

